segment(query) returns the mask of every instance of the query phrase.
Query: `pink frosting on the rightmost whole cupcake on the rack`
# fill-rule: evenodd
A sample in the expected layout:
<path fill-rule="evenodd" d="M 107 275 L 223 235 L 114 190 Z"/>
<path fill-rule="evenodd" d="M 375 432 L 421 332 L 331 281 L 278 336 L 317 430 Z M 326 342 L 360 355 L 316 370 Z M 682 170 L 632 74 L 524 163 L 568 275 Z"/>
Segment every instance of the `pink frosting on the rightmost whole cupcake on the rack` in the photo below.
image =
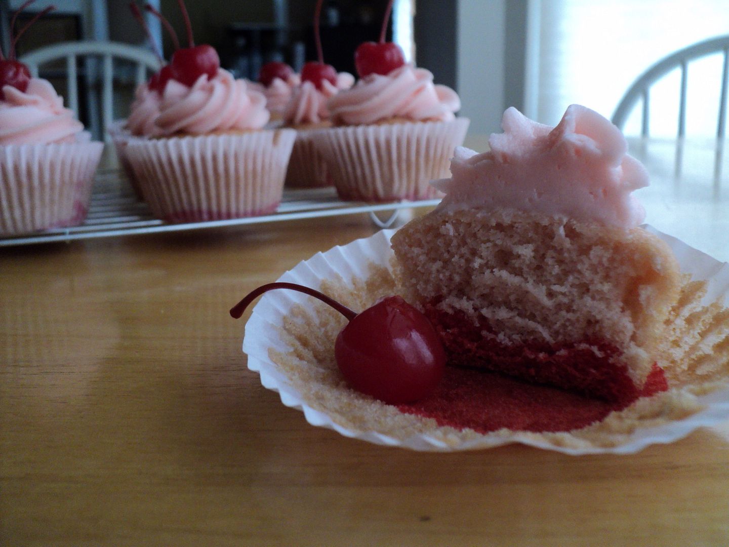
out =
<path fill-rule="evenodd" d="M 445 85 L 434 85 L 433 74 L 412 65 L 386 76 L 370 74 L 350 90 L 327 102 L 332 121 L 361 125 L 404 117 L 413 121 L 453 120 L 461 108 L 458 94 Z"/>

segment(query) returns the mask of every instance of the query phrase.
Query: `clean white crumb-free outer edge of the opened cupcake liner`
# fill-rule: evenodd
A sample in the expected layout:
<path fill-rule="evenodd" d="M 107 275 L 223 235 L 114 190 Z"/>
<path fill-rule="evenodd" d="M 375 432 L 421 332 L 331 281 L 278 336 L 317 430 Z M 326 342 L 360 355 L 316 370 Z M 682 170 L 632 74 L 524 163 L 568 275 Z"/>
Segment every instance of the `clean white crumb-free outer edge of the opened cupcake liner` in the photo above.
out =
<path fill-rule="evenodd" d="M 729 295 L 728 264 L 720 263 L 651 227 L 647 229 L 667 241 L 683 271 L 693 274 L 695 279 L 709 280 L 709 292 L 705 297 L 707 303 L 717 298 L 726 300 Z M 300 283 L 316 288 L 325 280 L 332 282 L 343 280 L 347 283 L 350 279 L 367 279 L 373 265 L 388 269 L 391 267 L 393 254 L 390 237 L 393 233 L 394 230 L 382 230 L 370 238 L 359 239 L 343 247 L 334 247 L 327 252 L 317 253 L 311 259 L 287 271 L 278 281 Z M 339 416 L 313 408 L 307 403 L 302 392 L 295 387 L 295 383 L 286 371 L 270 357 L 271 351 L 283 354 L 289 352 L 290 348 L 282 340 L 280 329 L 284 325 L 284 319 L 290 317 L 292 309 L 297 305 L 306 306 L 307 301 L 308 297 L 305 295 L 287 290 L 272 291 L 263 295 L 246 323 L 243 352 L 248 354 L 248 368 L 260 374 L 260 381 L 264 387 L 279 393 L 284 405 L 303 411 L 305 419 L 310 424 L 330 428 L 349 438 L 418 451 L 461 451 L 523 443 L 573 455 L 632 454 L 651 444 L 677 441 L 698 427 L 711 426 L 729 419 L 729 389 L 719 389 L 708 395 L 696 397 L 697 404 L 703 406 L 701 411 L 659 425 L 647 420 L 644 427 L 637 427 L 632 432 L 616 432 L 615 442 L 611 446 L 590 443 L 584 439 L 577 445 L 570 445 L 563 442 L 564 437 L 559 437 L 568 435 L 567 433 L 555 434 L 558 437 L 551 441 L 550 438 L 533 432 L 504 432 L 504 430 L 477 435 L 477 438 L 462 441 L 435 433 L 414 434 L 403 440 L 377 430 L 363 431 L 343 427 L 341 423 L 347 422 L 351 416 L 343 420 Z"/>

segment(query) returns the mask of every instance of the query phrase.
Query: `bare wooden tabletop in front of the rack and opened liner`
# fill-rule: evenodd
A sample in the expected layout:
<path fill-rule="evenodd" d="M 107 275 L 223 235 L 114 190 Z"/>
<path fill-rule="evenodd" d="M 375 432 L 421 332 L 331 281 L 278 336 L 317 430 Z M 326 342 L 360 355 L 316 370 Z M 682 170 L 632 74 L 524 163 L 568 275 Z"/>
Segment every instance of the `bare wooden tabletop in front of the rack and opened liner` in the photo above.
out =
<path fill-rule="evenodd" d="M 365 216 L 0 252 L 0 544 L 720 546 L 729 424 L 632 456 L 419 454 L 305 422 L 227 310 Z"/>

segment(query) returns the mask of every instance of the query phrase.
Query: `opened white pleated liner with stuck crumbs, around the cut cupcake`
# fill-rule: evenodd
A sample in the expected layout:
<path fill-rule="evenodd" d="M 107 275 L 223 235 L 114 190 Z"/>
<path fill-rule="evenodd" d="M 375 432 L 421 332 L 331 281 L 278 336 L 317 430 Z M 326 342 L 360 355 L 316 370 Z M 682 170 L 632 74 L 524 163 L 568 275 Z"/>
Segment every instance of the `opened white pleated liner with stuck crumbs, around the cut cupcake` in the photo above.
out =
<path fill-rule="evenodd" d="M 648 227 L 649 230 L 652 228 Z M 246 324 L 243 352 L 263 386 L 303 411 L 313 425 L 371 443 L 420 451 L 487 449 L 523 443 L 565 454 L 629 454 L 654 443 L 670 443 L 698 427 L 729 419 L 729 265 L 681 241 L 655 232 L 674 249 L 693 281 L 671 316 L 660 355 L 669 389 L 636 400 L 581 429 L 563 432 L 472 429 L 439 426 L 348 388 L 333 358 L 333 341 L 345 320 L 300 293 L 268 292 Z M 317 253 L 280 281 L 319 288 L 353 309 L 364 309 L 395 290 L 389 238 L 394 230 Z"/>

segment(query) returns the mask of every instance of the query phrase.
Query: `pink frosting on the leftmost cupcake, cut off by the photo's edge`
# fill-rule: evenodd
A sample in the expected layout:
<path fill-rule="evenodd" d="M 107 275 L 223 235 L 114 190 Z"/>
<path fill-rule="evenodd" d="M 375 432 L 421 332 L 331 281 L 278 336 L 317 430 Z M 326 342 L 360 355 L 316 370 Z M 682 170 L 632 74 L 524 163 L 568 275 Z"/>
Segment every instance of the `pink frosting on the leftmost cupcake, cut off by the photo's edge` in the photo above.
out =
<path fill-rule="evenodd" d="M 25 92 L 10 85 L 2 90 L 0 144 L 74 142 L 84 129 L 45 79 L 31 78 Z"/>

